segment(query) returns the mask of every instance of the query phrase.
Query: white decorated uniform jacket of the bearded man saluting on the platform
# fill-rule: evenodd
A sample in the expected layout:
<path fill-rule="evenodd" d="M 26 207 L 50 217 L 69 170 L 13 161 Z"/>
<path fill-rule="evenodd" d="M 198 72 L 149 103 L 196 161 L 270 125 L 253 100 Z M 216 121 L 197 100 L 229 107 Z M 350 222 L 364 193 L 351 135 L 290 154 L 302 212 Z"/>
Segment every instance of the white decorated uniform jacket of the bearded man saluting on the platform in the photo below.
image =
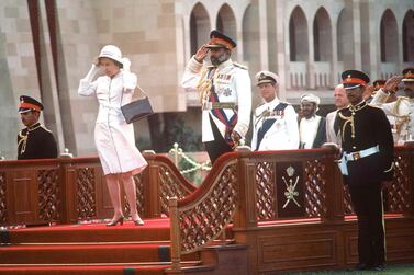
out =
<path fill-rule="evenodd" d="M 220 112 L 227 121 L 237 113 L 237 122 L 234 129 L 243 138 L 245 137 L 248 125 L 250 123 L 251 112 L 251 83 L 250 76 L 246 68 L 233 62 L 231 59 L 224 61 L 217 68 L 213 66 L 203 67 L 203 64 L 198 62 L 192 57 L 186 67 L 182 77 L 182 87 L 186 89 L 199 89 L 205 80 L 211 78 L 214 91 L 220 103 L 233 103 L 237 107 L 221 108 Z M 201 89 L 199 92 L 202 93 Z M 202 96 L 201 96 L 202 98 Z M 205 101 L 205 99 L 204 99 Z M 209 101 L 209 100 L 206 100 Z M 205 102 L 202 102 L 202 105 Z M 211 108 L 203 107 L 202 111 L 202 141 L 208 142 L 214 140 L 213 130 L 210 124 L 210 117 L 217 126 L 219 131 L 225 137 L 226 125 L 213 115 Z"/>

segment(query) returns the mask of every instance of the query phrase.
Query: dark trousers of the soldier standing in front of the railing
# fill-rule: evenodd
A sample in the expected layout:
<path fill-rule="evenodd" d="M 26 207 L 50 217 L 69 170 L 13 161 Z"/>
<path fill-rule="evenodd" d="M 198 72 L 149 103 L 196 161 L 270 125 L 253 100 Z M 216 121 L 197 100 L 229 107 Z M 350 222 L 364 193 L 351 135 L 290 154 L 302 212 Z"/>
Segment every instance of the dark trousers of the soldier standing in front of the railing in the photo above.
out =
<path fill-rule="evenodd" d="M 381 184 L 349 185 L 350 199 L 358 217 L 359 263 L 385 263 L 385 232 Z"/>

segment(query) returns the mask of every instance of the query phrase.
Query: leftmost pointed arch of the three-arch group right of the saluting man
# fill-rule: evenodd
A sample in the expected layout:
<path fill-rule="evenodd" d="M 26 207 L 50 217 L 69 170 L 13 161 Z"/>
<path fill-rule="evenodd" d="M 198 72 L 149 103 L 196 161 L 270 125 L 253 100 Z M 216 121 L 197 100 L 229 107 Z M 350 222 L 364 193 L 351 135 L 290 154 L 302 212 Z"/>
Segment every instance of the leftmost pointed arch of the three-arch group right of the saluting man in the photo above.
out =
<path fill-rule="evenodd" d="M 306 61 L 309 57 L 306 16 L 300 7 L 289 19 L 289 47 L 291 61 Z"/>

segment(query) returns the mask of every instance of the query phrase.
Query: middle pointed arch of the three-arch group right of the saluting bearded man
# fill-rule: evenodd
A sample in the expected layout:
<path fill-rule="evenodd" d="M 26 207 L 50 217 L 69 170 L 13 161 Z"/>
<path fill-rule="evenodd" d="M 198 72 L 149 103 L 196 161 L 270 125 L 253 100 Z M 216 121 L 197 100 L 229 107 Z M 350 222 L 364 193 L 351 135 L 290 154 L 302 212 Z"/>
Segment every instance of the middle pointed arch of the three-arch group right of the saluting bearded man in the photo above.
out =
<path fill-rule="evenodd" d="M 325 8 L 321 7 L 313 20 L 314 60 L 328 61 L 332 57 L 332 26 Z"/>

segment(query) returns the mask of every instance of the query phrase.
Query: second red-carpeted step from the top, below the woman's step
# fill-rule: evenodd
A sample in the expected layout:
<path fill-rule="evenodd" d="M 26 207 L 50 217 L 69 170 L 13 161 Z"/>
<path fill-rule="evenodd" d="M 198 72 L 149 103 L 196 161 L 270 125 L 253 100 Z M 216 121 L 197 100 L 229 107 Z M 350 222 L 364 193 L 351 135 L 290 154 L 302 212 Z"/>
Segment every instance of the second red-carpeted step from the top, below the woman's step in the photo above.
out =
<path fill-rule="evenodd" d="M 184 255 L 195 261 L 198 253 Z M 155 243 L 89 243 L 89 244 L 23 244 L 0 247 L 0 264 L 83 264 L 169 262 L 168 242 Z"/>

